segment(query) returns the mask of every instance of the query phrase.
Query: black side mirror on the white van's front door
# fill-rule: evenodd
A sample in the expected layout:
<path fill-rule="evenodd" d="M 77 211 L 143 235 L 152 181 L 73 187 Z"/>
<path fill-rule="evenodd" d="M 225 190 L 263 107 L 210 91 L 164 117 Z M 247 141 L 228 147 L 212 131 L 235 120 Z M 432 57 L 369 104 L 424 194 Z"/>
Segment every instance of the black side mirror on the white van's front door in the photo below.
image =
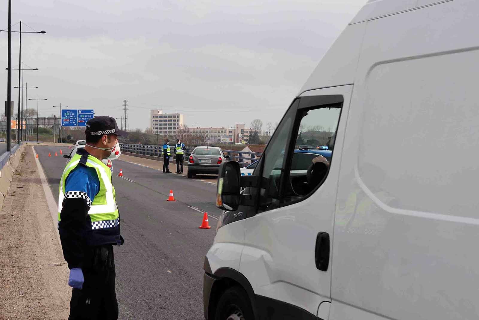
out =
<path fill-rule="evenodd" d="M 235 211 L 240 202 L 241 171 L 237 161 L 225 161 L 219 166 L 216 205 L 218 208 Z"/>

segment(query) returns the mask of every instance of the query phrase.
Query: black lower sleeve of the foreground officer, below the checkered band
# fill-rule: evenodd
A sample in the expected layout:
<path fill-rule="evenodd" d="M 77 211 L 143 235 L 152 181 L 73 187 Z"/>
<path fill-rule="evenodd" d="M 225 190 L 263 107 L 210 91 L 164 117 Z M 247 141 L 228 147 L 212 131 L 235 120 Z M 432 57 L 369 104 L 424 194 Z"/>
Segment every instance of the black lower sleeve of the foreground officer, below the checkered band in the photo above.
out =
<path fill-rule="evenodd" d="M 68 262 L 68 268 L 81 268 L 84 261 L 86 238 L 84 226 L 90 207 L 85 199 L 65 198 L 60 212 L 60 233 L 63 257 Z"/>

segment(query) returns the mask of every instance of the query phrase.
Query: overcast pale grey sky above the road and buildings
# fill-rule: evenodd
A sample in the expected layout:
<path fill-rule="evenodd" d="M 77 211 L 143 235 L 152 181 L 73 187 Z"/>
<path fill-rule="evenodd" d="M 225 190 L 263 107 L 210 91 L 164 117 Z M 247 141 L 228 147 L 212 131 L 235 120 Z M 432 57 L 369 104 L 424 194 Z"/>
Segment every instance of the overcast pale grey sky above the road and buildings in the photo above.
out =
<path fill-rule="evenodd" d="M 365 0 L 15 0 L 22 20 L 46 35 L 23 34 L 23 71 L 40 116 L 60 103 L 123 115 L 146 129 L 149 110 L 184 114 L 186 124 L 277 122 L 312 69 Z M 7 1 L 0 28 L 8 27 Z M 23 26 L 23 31 L 28 27 Z M 18 30 L 18 25 L 13 27 Z M 12 37 L 18 65 L 18 34 Z M 0 33 L 7 66 L 7 33 Z M 25 65 L 24 65 L 25 68 Z M 7 71 L 0 68 L 6 100 Z M 18 71 L 12 72 L 18 85 Z M 17 107 L 18 91 L 12 89 Z M 36 102 L 28 101 L 28 107 Z"/>

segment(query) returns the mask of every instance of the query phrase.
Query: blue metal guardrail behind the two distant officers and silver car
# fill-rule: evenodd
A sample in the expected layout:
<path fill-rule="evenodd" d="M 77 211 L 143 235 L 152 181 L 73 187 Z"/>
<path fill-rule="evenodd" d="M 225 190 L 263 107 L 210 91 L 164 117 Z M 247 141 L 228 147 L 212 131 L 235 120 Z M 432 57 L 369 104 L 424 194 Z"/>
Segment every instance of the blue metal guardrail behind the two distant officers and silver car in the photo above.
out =
<path fill-rule="evenodd" d="M 148 155 L 148 156 L 159 157 L 159 158 L 163 157 L 162 145 L 120 143 L 120 148 L 123 152 L 127 152 L 130 154 L 142 154 L 142 155 Z M 190 151 L 188 151 L 188 149 L 190 149 Z M 192 153 L 193 149 L 194 148 L 186 147 L 186 151 L 184 154 L 186 156 L 189 156 Z M 246 151 L 239 151 L 239 150 L 223 150 L 223 152 L 229 155 L 231 159 L 237 160 L 241 166 L 248 166 L 250 163 L 245 161 L 251 161 L 251 163 L 253 163 L 261 156 L 260 153 L 246 152 Z M 246 154 L 248 154 L 249 156 L 243 156 Z M 174 152 L 173 152 L 173 155 L 174 155 Z"/>

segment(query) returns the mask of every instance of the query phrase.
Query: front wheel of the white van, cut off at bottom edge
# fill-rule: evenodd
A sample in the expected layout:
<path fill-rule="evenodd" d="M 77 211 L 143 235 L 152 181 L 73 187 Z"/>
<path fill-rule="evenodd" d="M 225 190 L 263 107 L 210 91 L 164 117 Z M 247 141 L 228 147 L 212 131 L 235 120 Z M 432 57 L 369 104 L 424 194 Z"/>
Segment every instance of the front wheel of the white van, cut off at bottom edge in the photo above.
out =
<path fill-rule="evenodd" d="M 243 288 L 235 286 L 219 298 L 215 320 L 253 320 L 250 299 Z"/>

